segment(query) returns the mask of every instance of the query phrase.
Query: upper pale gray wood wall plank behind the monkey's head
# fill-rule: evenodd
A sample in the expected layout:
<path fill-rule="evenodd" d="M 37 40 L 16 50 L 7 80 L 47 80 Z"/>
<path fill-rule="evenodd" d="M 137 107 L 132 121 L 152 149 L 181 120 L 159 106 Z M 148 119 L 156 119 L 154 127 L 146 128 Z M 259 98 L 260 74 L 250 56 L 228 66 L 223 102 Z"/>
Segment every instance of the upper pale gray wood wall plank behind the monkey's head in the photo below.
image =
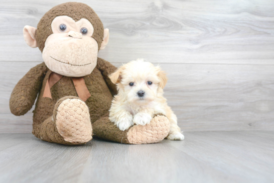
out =
<path fill-rule="evenodd" d="M 1 0 L 0 61 L 42 61 L 39 49 L 24 43 L 22 29 L 36 27 L 46 11 L 66 1 Z M 274 63 L 273 0 L 81 2 L 93 7 L 110 29 L 100 57 L 112 62 Z"/>

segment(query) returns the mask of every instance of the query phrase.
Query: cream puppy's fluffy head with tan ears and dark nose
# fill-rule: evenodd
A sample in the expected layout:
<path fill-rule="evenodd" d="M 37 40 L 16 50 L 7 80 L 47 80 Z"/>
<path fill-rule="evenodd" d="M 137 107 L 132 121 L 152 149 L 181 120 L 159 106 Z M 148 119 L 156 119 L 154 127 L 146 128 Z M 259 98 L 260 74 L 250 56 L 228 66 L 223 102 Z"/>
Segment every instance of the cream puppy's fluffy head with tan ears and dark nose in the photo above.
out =
<path fill-rule="evenodd" d="M 129 102 L 145 104 L 157 97 L 167 78 L 159 67 L 137 60 L 121 66 L 110 76 L 118 86 L 119 93 Z"/>

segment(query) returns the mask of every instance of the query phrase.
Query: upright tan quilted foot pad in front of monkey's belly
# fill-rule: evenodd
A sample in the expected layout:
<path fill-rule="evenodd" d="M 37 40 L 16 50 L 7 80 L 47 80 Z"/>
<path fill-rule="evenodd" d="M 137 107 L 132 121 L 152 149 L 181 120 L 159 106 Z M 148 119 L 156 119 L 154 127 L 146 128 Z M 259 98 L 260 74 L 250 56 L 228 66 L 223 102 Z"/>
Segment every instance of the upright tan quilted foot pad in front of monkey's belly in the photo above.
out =
<path fill-rule="evenodd" d="M 77 98 L 63 100 L 57 108 L 56 127 L 67 142 L 85 143 L 92 139 L 88 106 Z"/>

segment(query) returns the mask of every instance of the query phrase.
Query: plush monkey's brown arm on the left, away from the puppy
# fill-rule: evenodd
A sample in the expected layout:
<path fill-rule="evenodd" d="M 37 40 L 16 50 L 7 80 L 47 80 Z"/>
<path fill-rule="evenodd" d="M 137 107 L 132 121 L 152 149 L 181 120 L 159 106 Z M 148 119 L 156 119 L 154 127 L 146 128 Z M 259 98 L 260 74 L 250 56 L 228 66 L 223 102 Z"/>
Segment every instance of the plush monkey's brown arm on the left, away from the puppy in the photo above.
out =
<path fill-rule="evenodd" d="M 40 91 L 47 67 L 45 63 L 31 68 L 16 84 L 11 92 L 9 108 L 12 114 L 19 116 L 29 111 Z"/>

